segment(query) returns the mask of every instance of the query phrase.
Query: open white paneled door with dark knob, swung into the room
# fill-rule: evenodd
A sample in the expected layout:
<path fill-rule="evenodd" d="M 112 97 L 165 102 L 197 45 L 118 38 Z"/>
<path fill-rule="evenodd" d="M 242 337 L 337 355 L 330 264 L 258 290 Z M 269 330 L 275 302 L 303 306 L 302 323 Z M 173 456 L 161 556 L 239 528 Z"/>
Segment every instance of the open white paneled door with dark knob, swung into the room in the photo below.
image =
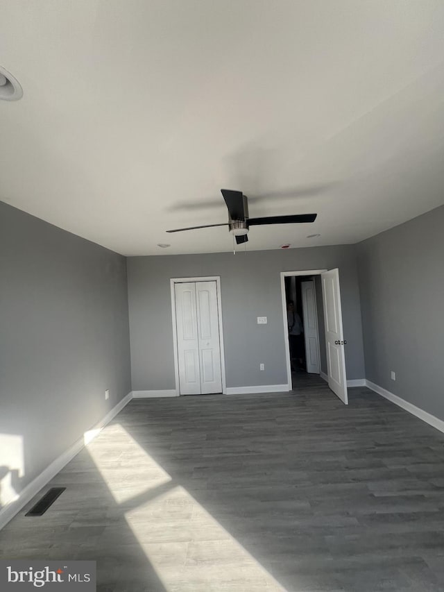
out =
<path fill-rule="evenodd" d="M 348 405 L 345 375 L 344 336 L 342 328 L 339 269 L 321 273 L 325 316 L 325 346 L 327 348 L 328 386 Z"/>

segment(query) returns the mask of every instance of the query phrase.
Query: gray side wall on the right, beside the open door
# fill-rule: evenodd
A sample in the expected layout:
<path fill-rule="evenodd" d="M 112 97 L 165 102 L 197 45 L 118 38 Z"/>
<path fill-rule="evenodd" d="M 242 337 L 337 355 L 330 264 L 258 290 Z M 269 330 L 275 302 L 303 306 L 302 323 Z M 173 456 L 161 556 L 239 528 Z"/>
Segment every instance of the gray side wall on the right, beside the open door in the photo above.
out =
<path fill-rule="evenodd" d="M 444 419 L 444 206 L 357 251 L 366 378 Z"/>

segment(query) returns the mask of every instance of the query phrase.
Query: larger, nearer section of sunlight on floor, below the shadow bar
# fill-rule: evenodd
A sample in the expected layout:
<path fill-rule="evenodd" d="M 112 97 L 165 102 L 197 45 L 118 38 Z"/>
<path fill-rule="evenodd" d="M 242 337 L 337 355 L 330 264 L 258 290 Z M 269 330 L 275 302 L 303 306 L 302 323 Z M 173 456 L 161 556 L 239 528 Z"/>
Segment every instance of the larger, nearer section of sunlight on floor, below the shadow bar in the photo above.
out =
<path fill-rule="evenodd" d="M 284 590 L 183 487 L 126 520 L 167 591 Z"/>

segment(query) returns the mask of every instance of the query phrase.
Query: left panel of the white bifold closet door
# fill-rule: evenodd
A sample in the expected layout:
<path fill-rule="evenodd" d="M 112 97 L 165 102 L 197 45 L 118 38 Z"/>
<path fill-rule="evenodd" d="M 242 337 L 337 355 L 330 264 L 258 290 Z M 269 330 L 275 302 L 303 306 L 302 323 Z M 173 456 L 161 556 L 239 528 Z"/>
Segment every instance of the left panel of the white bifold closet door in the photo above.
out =
<path fill-rule="evenodd" d="M 196 283 L 175 284 L 181 395 L 200 394 L 200 362 L 196 308 Z"/>

